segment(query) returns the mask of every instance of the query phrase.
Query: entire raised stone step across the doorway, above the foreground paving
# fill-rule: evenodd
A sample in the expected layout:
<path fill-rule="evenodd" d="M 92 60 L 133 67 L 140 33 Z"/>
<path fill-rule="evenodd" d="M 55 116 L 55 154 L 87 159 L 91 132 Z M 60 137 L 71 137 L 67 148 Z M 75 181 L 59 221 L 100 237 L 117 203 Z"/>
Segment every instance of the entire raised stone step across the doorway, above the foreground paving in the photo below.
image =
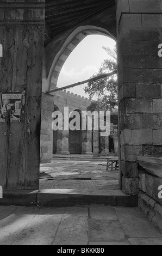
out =
<path fill-rule="evenodd" d="M 111 205 L 136 207 L 138 196 L 128 196 L 120 190 L 90 191 L 76 189 L 4 191 L 0 205 L 64 207 L 77 205 Z"/>

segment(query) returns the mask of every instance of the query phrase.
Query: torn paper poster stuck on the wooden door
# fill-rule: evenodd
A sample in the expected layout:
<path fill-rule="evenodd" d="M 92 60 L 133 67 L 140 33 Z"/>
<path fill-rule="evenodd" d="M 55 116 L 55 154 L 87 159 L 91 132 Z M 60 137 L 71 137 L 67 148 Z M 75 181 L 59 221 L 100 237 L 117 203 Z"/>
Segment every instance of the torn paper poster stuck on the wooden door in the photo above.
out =
<path fill-rule="evenodd" d="M 22 93 L 1 93 L 0 122 L 21 120 Z"/>

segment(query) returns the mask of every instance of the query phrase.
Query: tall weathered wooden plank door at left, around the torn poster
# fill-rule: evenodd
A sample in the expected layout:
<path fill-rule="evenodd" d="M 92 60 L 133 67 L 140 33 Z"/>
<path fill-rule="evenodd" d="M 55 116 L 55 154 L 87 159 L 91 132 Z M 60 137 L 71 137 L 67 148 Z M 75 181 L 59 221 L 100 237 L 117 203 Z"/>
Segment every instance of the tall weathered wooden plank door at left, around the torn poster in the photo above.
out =
<path fill-rule="evenodd" d="M 3 0 L 0 10 L 0 93 L 25 92 L 21 121 L 0 123 L 0 180 L 38 189 L 45 0 Z"/>

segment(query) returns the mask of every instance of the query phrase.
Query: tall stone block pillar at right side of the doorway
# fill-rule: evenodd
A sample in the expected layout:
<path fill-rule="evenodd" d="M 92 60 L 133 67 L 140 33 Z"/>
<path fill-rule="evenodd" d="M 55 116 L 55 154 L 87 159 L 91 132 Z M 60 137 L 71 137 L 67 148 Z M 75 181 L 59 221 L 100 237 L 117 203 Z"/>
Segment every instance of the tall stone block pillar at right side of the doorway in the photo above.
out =
<path fill-rule="evenodd" d="M 149 2 L 149 3 L 148 3 Z M 161 1 L 117 0 L 121 187 L 138 194 L 138 156 L 161 156 Z"/>

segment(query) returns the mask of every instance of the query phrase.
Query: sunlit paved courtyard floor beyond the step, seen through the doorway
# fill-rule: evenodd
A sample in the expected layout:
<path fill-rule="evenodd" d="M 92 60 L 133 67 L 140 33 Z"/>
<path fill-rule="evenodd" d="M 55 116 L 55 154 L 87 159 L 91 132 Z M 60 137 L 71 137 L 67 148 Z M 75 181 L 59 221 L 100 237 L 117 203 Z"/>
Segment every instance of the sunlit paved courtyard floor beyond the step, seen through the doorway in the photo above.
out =
<path fill-rule="evenodd" d="M 118 170 L 106 170 L 105 159 L 53 159 L 41 164 L 40 189 L 76 188 L 90 191 L 119 190 Z M 49 174 L 51 177 L 46 175 Z M 53 178 L 52 178 L 53 177 Z"/>

